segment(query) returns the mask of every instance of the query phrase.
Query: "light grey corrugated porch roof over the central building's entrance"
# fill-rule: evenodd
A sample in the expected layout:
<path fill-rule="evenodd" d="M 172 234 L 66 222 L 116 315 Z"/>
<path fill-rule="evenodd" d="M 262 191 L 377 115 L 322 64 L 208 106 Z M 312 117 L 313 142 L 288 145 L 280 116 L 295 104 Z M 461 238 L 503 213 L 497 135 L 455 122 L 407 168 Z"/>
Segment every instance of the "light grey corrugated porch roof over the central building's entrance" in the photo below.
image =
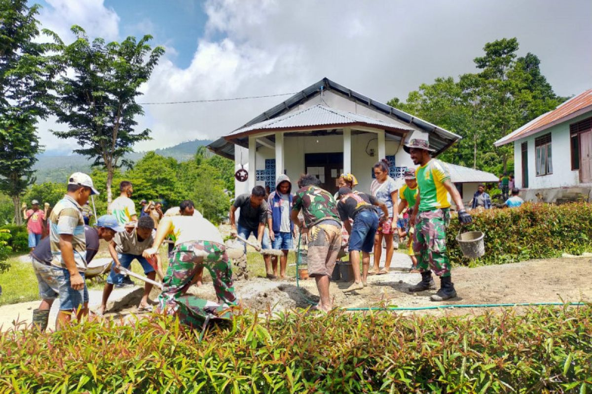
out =
<path fill-rule="evenodd" d="M 268 129 L 289 129 L 308 126 L 348 125 L 358 123 L 364 123 L 369 126 L 378 126 L 379 128 L 413 131 L 413 128 L 395 120 L 392 122 L 384 122 L 379 121 L 378 119 L 369 118 L 368 116 L 358 115 L 357 113 L 346 112 L 323 105 L 316 105 L 298 112 L 288 113 L 287 115 L 278 116 L 277 118 L 269 119 L 268 121 L 236 129 L 227 136 Z"/>

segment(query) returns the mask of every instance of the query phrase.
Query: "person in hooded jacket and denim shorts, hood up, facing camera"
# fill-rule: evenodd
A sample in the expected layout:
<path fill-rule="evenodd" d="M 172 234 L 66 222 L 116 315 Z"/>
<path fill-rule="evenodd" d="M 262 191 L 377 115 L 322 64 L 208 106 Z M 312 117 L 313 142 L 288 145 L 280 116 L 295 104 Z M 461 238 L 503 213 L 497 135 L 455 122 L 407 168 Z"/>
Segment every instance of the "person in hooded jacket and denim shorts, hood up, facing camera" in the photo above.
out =
<path fill-rule="evenodd" d="M 281 249 L 284 253 L 279 258 L 279 277 L 282 279 L 286 277 L 288 250 L 293 247 L 294 223 L 290 219 L 290 213 L 294 196 L 291 191 L 292 183 L 288 175 L 279 175 L 275 183 L 275 190 L 269 194 L 268 198 L 269 210 L 267 217 L 272 249 Z M 274 275 L 277 276 L 278 258 L 272 258 L 271 265 L 274 269 Z"/>

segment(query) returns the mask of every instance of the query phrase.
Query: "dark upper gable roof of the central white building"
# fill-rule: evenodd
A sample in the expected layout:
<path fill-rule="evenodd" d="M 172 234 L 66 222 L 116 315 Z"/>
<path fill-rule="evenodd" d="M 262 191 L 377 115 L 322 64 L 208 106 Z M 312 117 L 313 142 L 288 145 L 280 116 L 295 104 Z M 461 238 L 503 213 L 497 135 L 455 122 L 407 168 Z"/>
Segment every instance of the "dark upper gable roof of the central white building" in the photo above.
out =
<path fill-rule="evenodd" d="M 321 91 L 326 92 L 329 90 L 333 93 L 336 93 L 337 95 L 346 97 L 347 99 L 356 102 L 357 105 L 365 106 L 366 108 L 375 110 L 379 113 L 382 113 L 383 115 L 388 116 L 392 119 L 392 122 L 395 124 L 401 123 L 403 125 L 406 125 L 407 128 L 409 128 L 410 130 L 420 130 L 429 133 L 430 146 L 436 149 L 436 155 L 442 153 L 443 151 L 448 149 L 449 146 L 451 146 L 456 141 L 462 138 L 461 136 L 455 133 L 449 132 L 448 130 L 433 125 L 432 123 L 416 118 L 415 116 L 410 115 L 407 112 L 401 111 L 397 108 L 391 107 L 390 105 L 386 105 L 376 100 L 372 100 L 369 97 L 361 95 L 358 92 L 355 92 L 351 89 L 348 89 L 345 86 L 335 83 L 328 78 L 323 78 L 319 82 L 311 84 L 307 88 L 296 93 L 294 96 L 289 97 L 289 99 L 285 100 L 284 102 L 279 103 L 273 108 L 266 110 L 265 112 L 256 116 L 256 118 L 253 118 L 251 121 L 245 123 L 240 129 L 248 128 L 249 126 L 253 126 L 256 123 L 265 122 L 269 119 L 285 115 L 295 106 L 298 106 L 301 103 L 306 102 L 312 99 L 313 97 L 316 97 L 317 95 L 320 95 Z M 375 119 L 372 120 L 375 121 Z M 230 133 L 229 135 L 236 135 L 235 132 Z M 224 138 L 217 139 L 212 144 L 208 145 L 208 148 L 214 153 L 227 158 L 232 159 L 234 156 L 234 143 L 226 141 L 226 139 Z"/>

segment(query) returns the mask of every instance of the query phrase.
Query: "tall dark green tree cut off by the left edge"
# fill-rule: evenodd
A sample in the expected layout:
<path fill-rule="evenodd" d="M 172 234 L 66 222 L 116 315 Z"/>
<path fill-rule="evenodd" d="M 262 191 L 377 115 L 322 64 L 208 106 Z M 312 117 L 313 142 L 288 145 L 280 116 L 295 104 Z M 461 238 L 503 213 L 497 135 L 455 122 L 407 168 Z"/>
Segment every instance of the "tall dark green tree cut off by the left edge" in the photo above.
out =
<path fill-rule="evenodd" d="M 31 167 L 40 151 L 35 126 L 46 118 L 53 77 L 62 67 L 54 43 L 40 43 L 38 5 L 26 0 L 0 0 L 0 191 L 14 203 L 15 223 L 21 224 L 20 197 L 33 181 Z"/>

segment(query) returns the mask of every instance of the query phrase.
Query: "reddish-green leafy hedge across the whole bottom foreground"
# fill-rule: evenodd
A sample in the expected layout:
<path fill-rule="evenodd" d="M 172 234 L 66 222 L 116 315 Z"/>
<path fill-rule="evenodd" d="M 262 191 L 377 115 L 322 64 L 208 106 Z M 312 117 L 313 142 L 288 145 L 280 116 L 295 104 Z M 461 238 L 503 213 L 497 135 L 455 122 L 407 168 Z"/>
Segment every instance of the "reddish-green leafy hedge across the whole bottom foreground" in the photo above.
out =
<path fill-rule="evenodd" d="M 590 392 L 592 304 L 464 317 L 238 314 L 0 334 L 0 392 Z M 586 391 L 588 390 L 588 391 Z"/>

